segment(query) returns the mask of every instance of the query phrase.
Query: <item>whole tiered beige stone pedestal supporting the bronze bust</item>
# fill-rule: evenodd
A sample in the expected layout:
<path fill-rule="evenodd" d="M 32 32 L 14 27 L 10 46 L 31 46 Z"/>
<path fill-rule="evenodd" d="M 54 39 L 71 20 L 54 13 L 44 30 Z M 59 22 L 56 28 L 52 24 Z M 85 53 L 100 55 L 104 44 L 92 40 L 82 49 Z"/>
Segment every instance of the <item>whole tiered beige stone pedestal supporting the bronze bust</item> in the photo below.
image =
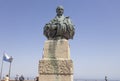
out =
<path fill-rule="evenodd" d="M 47 40 L 39 61 L 39 81 L 73 81 L 68 40 Z"/>

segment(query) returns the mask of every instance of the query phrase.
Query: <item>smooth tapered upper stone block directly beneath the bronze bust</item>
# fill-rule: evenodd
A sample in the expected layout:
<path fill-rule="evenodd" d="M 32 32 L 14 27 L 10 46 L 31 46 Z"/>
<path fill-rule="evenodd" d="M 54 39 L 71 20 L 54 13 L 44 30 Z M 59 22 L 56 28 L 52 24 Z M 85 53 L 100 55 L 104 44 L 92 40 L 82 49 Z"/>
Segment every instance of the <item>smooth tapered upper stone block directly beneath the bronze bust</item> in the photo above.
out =
<path fill-rule="evenodd" d="M 45 41 L 43 51 L 43 59 L 70 59 L 70 47 L 66 39 Z"/>

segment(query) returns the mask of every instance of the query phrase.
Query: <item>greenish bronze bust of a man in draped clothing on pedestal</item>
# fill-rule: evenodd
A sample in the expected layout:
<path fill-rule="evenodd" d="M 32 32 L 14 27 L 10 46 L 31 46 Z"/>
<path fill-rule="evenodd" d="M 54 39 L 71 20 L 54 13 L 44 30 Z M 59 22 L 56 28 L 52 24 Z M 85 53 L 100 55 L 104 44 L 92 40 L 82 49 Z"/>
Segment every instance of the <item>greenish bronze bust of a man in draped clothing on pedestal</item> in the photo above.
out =
<path fill-rule="evenodd" d="M 63 15 L 64 8 L 58 6 L 56 17 L 44 27 L 44 35 L 48 40 L 73 39 L 75 29 L 69 17 Z"/>

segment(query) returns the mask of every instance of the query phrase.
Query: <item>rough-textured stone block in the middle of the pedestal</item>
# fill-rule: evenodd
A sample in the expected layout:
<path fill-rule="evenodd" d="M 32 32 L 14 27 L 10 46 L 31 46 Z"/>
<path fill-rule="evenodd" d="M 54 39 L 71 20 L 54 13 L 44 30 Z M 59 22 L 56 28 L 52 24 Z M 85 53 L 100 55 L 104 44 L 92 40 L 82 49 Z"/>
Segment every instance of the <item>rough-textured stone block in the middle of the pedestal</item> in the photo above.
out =
<path fill-rule="evenodd" d="M 42 74 L 73 74 L 72 60 L 40 60 L 39 73 Z"/>

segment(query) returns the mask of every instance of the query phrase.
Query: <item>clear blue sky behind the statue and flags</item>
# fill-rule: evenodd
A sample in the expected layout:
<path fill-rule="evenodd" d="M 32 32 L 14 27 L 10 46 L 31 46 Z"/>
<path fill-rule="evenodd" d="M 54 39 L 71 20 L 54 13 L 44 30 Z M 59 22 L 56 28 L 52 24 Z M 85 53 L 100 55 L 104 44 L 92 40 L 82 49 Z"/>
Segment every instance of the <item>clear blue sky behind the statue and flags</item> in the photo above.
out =
<path fill-rule="evenodd" d="M 13 56 L 11 76 L 38 75 L 43 27 L 63 5 L 75 25 L 69 40 L 74 78 L 120 79 L 120 0 L 0 0 L 0 60 Z M 1 66 L 0 61 L 0 66 Z M 3 76 L 9 63 L 4 62 Z"/>

